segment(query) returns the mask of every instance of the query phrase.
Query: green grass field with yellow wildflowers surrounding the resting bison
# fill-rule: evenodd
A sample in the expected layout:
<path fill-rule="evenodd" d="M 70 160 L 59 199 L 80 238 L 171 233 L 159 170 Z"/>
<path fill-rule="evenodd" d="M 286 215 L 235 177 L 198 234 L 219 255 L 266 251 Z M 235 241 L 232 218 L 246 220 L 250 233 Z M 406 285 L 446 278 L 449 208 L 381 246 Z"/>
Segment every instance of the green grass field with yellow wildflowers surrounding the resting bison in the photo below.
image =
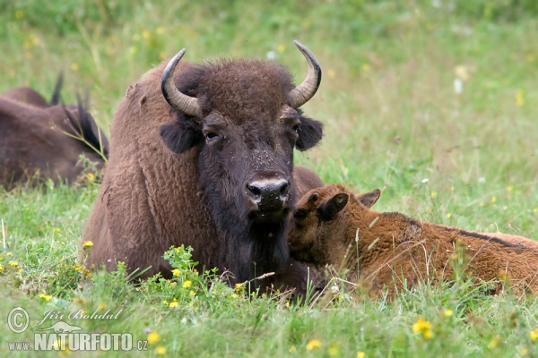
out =
<path fill-rule="evenodd" d="M 56 3 L 0 4 L 0 91 L 30 85 L 48 97 L 63 71 L 65 102 L 89 90 L 91 113 L 108 132 L 127 87 L 183 47 L 191 62 L 273 55 L 302 81 L 297 38 L 323 70 L 305 113 L 325 124 L 321 145 L 296 152 L 297 164 L 325 183 L 383 189 L 380 211 L 538 238 L 533 0 Z M 174 282 L 134 287 L 120 270 L 81 286 L 89 274 L 76 258 L 97 179 L 0 188 L 2 356 L 26 355 L 8 342 L 33 342 L 33 328 L 15 334 L 5 324 L 15 306 L 31 324 L 51 310 L 120 312 L 67 321 L 148 340 L 149 351 L 130 353 L 139 356 L 538 355 L 535 296 L 486 296 L 467 279 L 424 285 L 393 303 L 335 280 L 338 297 L 300 305 L 285 295 L 247 298 L 211 272 L 195 275 L 187 253 L 172 251 Z"/>

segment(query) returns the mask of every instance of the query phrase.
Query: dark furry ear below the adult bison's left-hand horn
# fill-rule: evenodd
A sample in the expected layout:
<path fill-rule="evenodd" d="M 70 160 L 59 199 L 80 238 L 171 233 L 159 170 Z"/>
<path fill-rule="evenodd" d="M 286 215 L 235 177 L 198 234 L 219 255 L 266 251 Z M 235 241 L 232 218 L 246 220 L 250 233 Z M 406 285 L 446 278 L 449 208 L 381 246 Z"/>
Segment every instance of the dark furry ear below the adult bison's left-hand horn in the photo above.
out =
<path fill-rule="evenodd" d="M 204 141 L 201 129 L 180 121 L 162 124 L 159 133 L 164 144 L 174 153 L 183 153 Z"/>

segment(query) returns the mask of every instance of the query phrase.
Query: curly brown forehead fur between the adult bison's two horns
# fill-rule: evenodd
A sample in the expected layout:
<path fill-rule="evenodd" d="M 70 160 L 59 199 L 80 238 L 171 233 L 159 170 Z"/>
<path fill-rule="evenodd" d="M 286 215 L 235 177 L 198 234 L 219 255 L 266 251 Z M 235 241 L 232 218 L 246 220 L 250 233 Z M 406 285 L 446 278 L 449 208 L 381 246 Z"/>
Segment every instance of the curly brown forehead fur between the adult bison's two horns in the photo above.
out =
<path fill-rule="evenodd" d="M 197 97 L 204 115 L 217 110 L 236 124 L 259 117 L 274 117 L 295 88 L 291 73 L 281 64 L 262 60 L 221 59 L 192 64 L 175 84 Z"/>

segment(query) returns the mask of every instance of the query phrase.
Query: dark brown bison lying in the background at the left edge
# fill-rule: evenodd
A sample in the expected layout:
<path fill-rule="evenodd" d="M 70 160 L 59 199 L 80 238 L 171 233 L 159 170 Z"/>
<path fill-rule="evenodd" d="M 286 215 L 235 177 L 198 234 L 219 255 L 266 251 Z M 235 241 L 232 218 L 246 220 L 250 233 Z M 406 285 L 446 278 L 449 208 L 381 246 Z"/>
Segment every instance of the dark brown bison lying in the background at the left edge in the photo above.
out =
<path fill-rule="evenodd" d="M 0 185 L 39 183 L 36 178 L 73 183 L 81 154 L 102 166 L 108 141 L 82 105 L 58 105 L 60 80 L 49 103 L 22 87 L 0 94 Z M 83 141 L 81 141 L 83 139 Z M 102 146 L 102 150 L 101 150 Z M 99 153 L 100 152 L 100 153 Z"/>

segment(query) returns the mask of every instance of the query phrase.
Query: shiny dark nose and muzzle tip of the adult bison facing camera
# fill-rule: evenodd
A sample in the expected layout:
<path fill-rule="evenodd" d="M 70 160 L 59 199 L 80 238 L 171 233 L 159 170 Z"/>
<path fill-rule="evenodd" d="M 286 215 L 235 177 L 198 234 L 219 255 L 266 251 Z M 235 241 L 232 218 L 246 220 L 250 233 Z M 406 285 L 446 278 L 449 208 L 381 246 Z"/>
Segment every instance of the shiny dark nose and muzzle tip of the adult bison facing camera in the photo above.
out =
<path fill-rule="evenodd" d="M 248 198 L 259 210 L 282 209 L 288 202 L 290 183 L 285 179 L 265 179 L 247 183 Z"/>

